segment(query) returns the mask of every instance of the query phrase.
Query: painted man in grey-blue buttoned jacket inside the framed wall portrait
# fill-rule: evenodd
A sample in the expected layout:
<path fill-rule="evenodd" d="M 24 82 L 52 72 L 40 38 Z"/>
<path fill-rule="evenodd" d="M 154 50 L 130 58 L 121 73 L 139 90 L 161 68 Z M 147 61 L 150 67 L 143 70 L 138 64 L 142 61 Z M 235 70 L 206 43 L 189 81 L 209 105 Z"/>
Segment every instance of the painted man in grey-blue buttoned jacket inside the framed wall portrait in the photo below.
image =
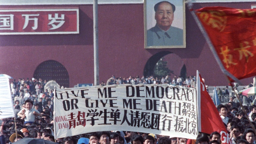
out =
<path fill-rule="evenodd" d="M 156 26 L 147 30 L 148 46 L 183 45 L 183 30 L 171 26 L 175 6 L 161 1 L 154 6 Z"/>

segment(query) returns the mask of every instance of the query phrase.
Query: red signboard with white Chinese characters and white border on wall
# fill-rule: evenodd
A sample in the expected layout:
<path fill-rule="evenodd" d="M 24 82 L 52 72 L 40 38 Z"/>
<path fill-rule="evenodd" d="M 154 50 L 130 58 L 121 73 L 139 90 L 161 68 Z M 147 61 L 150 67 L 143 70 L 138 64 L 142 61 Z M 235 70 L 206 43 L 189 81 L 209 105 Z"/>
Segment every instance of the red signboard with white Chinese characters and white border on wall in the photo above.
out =
<path fill-rule="evenodd" d="M 79 9 L 0 10 L 0 35 L 79 34 Z"/>

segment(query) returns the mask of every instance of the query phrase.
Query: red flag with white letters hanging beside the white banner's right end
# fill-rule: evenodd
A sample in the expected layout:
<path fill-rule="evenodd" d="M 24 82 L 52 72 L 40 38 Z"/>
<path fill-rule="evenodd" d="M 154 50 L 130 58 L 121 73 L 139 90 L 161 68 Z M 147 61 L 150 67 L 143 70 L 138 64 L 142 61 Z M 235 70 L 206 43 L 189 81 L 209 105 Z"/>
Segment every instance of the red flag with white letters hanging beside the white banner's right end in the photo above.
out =
<path fill-rule="evenodd" d="M 221 135 L 222 144 L 232 144 L 229 134 L 227 133 L 227 129 L 211 99 L 211 96 L 206 91 L 205 84 L 198 71 L 197 91 L 198 103 L 200 104 L 198 107 L 198 112 L 201 116 L 201 118 L 199 118 L 199 131 L 207 134 L 217 131 Z"/>

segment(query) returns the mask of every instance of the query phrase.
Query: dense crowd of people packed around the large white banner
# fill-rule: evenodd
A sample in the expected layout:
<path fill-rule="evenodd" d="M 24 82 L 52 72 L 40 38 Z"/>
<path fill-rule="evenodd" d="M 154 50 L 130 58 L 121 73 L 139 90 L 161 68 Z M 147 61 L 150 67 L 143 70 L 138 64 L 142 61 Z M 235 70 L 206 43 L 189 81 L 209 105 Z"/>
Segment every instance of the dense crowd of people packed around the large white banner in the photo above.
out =
<path fill-rule="evenodd" d="M 107 85 L 166 83 L 173 86 L 195 87 L 195 81 L 194 76 L 189 76 L 184 80 L 176 75 L 172 79 L 169 75 L 162 79 L 153 76 L 121 78 L 113 75 Z M 54 96 L 52 90 L 48 92 L 43 88 L 45 83 L 47 81 L 42 82 L 41 79 L 34 78 L 27 78 L 26 81 L 22 78 L 18 82 L 13 80 L 10 83 L 15 118 L 2 119 L 0 144 L 13 143 L 26 137 L 63 144 L 221 144 L 221 135 L 218 132 L 212 132 L 210 135 L 199 134 L 196 140 L 130 131 L 102 131 L 55 139 L 53 132 Z M 102 82 L 101 85 L 104 86 L 105 83 Z M 255 144 L 256 105 L 244 108 L 246 112 L 241 110 L 233 99 L 217 107 L 233 144 Z"/>

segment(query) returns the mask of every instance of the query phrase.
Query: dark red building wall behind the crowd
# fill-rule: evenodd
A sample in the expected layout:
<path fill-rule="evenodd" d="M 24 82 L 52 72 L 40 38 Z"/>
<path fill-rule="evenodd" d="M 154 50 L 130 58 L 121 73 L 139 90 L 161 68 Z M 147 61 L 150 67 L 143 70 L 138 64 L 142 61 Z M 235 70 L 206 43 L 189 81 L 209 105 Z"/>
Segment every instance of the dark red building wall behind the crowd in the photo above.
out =
<path fill-rule="evenodd" d="M 206 6 L 249 9 L 251 4 L 256 2 L 194 4 L 194 9 Z M 16 79 L 31 78 L 40 63 L 56 60 L 67 69 L 70 87 L 77 83 L 94 83 L 93 7 L 80 5 L 79 9 L 80 34 L 0 35 L 0 73 Z M 166 59 L 171 66 L 181 68 L 185 64 L 188 76 L 196 75 L 199 70 L 206 85 L 227 85 L 225 75 L 187 8 L 186 48 L 172 49 L 144 49 L 143 4 L 105 4 L 98 9 L 100 81 L 106 82 L 112 75 L 142 76 L 151 56 L 170 51 L 178 56 Z M 178 70 L 176 72 L 179 75 Z M 242 80 L 245 85 L 250 81 L 252 78 Z"/>

